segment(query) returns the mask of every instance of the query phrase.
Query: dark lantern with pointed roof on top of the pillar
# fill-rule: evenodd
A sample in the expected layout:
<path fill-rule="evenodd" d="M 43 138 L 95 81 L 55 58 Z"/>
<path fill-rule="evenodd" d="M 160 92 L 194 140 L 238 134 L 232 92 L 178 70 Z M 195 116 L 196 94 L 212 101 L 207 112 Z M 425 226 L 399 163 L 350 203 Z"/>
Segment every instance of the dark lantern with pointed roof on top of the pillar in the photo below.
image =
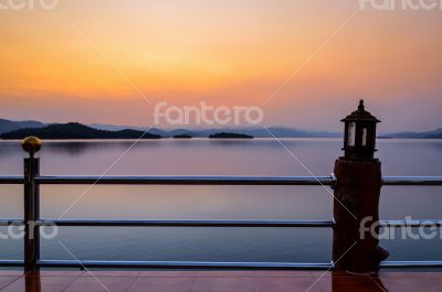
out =
<path fill-rule="evenodd" d="M 372 160 L 377 151 L 376 125 L 380 120 L 366 111 L 364 100 L 360 100 L 358 110 L 341 121 L 345 122 L 344 159 Z"/>

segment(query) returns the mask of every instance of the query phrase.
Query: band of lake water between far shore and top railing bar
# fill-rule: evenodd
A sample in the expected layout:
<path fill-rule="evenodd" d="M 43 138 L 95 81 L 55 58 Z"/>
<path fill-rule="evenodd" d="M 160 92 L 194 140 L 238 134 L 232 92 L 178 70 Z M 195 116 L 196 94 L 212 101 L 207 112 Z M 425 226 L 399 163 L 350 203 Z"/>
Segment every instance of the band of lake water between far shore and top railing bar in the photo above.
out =
<path fill-rule="evenodd" d="M 318 175 L 330 173 L 341 154 L 339 139 L 282 139 Z M 109 174 L 306 175 L 306 171 L 272 139 L 45 141 L 43 174 L 98 175 L 133 149 Z M 380 140 L 385 175 L 441 175 L 442 141 Z M 0 174 L 22 173 L 25 156 L 19 141 L 0 141 Z M 407 159 L 404 159 L 407 158 Z M 431 163 L 429 163 L 431 161 Z"/>

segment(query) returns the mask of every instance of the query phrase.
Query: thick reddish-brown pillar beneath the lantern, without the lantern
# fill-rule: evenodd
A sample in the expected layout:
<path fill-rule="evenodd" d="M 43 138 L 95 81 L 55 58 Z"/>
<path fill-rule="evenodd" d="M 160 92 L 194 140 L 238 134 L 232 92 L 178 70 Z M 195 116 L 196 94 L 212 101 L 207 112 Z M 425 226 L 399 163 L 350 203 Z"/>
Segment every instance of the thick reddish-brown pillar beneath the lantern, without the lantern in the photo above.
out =
<path fill-rule="evenodd" d="M 379 221 L 379 196 L 382 184 L 381 163 L 378 160 L 349 161 L 335 164 L 333 260 L 337 270 L 372 272 L 388 257 L 379 247 L 379 228 L 369 229 Z"/>

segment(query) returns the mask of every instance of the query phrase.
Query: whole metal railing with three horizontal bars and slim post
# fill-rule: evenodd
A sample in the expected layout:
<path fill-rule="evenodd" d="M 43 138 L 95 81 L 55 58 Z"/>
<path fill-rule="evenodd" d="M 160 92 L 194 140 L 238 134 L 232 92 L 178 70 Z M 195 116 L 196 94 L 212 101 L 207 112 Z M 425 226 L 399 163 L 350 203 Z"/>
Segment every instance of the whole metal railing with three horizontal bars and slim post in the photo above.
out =
<path fill-rule="evenodd" d="M 2 176 L 1 184 L 24 185 L 23 219 L 0 219 L 0 225 L 21 225 L 25 227 L 24 259 L 0 261 L 1 267 L 24 267 L 25 270 L 46 268 L 217 268 L 217 269 L 330 269 L 332 263 L 313 262 L 194 262 L 194 261 L 69 261 L 41 260 L 40 236 L 41 226 L 56 225 L 71 227 L 277 227 L 277 228 L 334 228 L 330 220 L 77 220 L 40 218 L 40 185 L 336 185 L 335 175 L 329 176 L 42 176 L 39 175 L 39 159 L 24 160 L 24 176 Z M 442 186 L 442 177 L 430 176 L 387 176 L 383 185 L 389 186 Z M 29 223 L 32 221 L 31 226 Z M 429 220 L 383 220 L 382 227 L 420 227 Z M 442 220 L 433 220 L 442 226 Z M 33 229 L 34 237 L 30 237 Z M 387 261 L 382 267 L 442 267 L 442 261 Z"/>

